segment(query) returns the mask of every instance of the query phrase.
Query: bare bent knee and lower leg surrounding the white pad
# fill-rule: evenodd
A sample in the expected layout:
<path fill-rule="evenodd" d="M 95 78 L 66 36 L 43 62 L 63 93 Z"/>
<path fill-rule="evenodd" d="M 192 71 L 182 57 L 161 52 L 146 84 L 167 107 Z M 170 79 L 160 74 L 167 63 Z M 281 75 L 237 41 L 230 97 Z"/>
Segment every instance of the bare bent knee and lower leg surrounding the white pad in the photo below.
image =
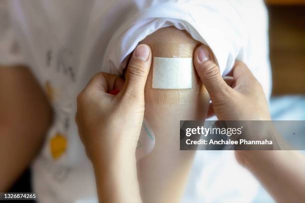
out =
<path fill-rule="evenodd" d="M 141 196 L 145 203 L 180 202 L 195 154 L 179 150 L 180 120 L 204 120 L 209 97 L 195 69 L 192 89 L 153 89 L 153 57 L 192 58 L 200 43 L 174 27 L 159 29 L 141 43 L 152 50 L 145 87 L 145 118 L 155 135 L 152 152 L 137 162 Z"/>

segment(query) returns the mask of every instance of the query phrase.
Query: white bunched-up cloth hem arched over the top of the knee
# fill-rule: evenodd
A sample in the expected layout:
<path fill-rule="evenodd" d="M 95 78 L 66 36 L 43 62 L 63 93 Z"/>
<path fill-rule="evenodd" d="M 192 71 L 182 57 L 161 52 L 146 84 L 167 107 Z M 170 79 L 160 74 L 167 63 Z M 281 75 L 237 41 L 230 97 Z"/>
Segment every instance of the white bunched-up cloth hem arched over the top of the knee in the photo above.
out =
<path fill-rule="evenodd" d="M 122 22 L 107 47 L 104 62 L 119 68 L 139 41 L 167 26 L 186 30 L 195 40 L 210 46 L 224 74 L 248 40 L 243 19 L 226 0 L 162 1 L 139 8 Z M 109 64 L 105 66 L 109 68 Z"/>

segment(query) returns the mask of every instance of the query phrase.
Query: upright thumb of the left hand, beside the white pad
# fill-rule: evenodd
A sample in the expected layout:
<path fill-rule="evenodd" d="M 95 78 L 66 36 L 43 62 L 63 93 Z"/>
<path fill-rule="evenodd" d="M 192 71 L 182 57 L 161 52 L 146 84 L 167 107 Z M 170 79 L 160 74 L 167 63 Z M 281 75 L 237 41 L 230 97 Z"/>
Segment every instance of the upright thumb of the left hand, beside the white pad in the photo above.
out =
<path fill-rule="evenodd" d="M 123 88 L 124 95 L 143 95 L 151 68 L 151 48 L 146 44 L 140 44 L 134 51 L 126 71 L 126 81 Z"/>

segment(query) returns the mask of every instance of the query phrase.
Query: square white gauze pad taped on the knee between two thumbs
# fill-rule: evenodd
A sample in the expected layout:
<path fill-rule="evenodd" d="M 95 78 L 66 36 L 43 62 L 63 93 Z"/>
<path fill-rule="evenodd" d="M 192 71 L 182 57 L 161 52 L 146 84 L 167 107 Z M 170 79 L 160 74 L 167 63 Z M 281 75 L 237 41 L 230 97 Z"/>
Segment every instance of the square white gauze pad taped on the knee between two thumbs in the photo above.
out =
<path fill-rule="evenodd" d="M 152 88 L 191 89 L 192 58 L 153 57 Z"/>

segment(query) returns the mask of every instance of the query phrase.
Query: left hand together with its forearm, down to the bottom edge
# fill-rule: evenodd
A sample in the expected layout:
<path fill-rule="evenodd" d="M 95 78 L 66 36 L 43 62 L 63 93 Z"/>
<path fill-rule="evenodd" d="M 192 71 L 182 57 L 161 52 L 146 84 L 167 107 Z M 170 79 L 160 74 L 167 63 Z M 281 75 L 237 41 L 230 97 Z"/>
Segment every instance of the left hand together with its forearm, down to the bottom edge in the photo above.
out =
<path fill-rule="evenodd" d="M 144 117 L 144 89 L 151 57 L 147 45 L 138 46 L 126 81 L 115 75 L 97 74 L 77 98 L 76 122 L 94 166 L 100 202 L 142 202 L 135 152 Z M 108 94 L 118 89 L 118 95 Z"/>

